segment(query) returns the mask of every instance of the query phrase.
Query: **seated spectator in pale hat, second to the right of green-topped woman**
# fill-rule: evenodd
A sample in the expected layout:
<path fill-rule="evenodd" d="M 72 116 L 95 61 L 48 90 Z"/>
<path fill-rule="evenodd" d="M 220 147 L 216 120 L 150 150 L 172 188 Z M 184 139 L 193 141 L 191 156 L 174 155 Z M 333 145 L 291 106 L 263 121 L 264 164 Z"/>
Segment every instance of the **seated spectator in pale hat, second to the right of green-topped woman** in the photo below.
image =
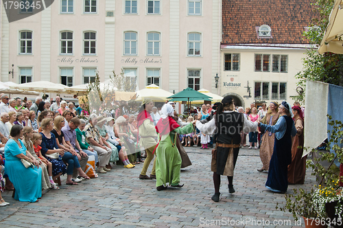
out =
<path fill-rule="evenodd" d="M 102 115 L 99 115 L 97 117 L 97 130 L 99 130 L 99 134 L 102 137 L 102 141 L 104 142 L 105 146 L 112 149 L 112 155 L 110 155 L 110 162 L 115 163 L 119 161 L 119 155 L 118 155 L 119 150 L 114 144 L 108 141 L 109 135 L 107 133 L 106 127 L 104 126 L 105 122 L 106 122 L 106 118 L 103 117 Z M 110 166 L 110 162 L 108 162 L 108 164 L 106 165 L 106 168 L 108 169 L 112 168 L 112 166 Z"/>

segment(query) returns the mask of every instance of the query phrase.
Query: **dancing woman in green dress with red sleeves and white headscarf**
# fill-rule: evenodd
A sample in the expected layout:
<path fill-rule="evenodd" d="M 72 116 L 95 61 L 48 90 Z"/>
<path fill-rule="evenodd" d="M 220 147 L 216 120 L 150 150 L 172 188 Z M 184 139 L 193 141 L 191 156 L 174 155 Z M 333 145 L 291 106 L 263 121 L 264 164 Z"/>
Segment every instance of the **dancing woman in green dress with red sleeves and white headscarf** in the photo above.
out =
<path fill-rule="evenodd" d="M 181 128 L 173 119 L 174 108 L 170 104 L 164 104 L 161 119 L 156 124 L 159 134 L 159 142 L 156 147 L 156 189 L 158 191 L 167 189 L 167 183 L 171 187 L 182 187 L 180 185 L 181 157 L 175 145 L 177 134 L 185 135 L 194 131 L 193 123 Z"/>

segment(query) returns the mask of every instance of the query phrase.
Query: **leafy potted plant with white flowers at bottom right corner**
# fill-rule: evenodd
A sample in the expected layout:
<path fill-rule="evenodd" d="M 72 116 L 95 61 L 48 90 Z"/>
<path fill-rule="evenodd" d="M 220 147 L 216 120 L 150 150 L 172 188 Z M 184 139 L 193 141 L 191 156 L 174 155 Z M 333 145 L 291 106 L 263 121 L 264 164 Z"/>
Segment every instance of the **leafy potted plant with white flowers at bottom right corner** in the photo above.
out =
<path fill-rule="evenodd" d="M 313 169 L 312 175 L 319 179 L 319 185 L 315 185 L 310 191 L 300 188 L 294 189 L 294 194 L 285 194 L 285 205 L 276 205 L 276 209 L 293 214 L 294 220 L 303 216 L 305 227 L 317 225 L 317 227 L 343 227 L 343 188 L 342 174 L 340 174 L 334 161 L 343 163 L 343 124 L 333 121 L 330 116 L 329 125 L 332 126 L 327 152 L 320 152 L 316 162 L 307 161 L 307 167 Z M 312 150 L 316 152 L 316 150 Z M 323 166 L 322 161 L 327 161 L 329 166 Z M 342 166 L 342 165 L 341 165 Z"/>

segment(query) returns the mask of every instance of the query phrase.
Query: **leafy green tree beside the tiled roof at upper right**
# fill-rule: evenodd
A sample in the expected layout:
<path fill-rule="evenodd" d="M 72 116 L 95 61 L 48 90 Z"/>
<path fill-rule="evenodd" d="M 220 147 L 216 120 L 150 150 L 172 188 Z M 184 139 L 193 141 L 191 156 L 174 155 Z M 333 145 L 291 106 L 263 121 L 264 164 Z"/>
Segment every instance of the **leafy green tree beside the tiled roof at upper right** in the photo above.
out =
<path fill-rule="evenodd" d="M 298 86 L 302 87 L 304 91 L 306 80 L 317 80 L 343 86 L 343 55 L 331 52 L 320 55 L 317 52 L 329 23 L 333 3 L 334 0 L 314 0 L 313 3 L 318 17 L 312 20 L 309 30 L 304 32 L 311 48 L 307 49 L 306 56 L 303 58 L 303 71 L 295 76 L 299 79 Z M 296 96 L 296 100 L 305 102 L 305 93 Z"/>

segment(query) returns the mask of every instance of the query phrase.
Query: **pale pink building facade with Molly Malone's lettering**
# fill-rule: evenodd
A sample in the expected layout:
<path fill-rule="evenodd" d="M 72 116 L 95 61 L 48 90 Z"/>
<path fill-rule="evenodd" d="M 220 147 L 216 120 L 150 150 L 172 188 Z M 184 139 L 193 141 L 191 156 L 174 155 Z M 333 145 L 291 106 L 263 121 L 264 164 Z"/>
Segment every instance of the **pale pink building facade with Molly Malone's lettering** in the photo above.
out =
<path fill-rule="evenodd" d="M 32 16 L 9 23 L 1 8 L 3 82 L 75 86 L 92 82 L 97 72 L 107 80 L 115 71 L 139 89 L 157 84 L 170 92 L 218 92 L 220 0 L 55 0 L 35 10 L 18 9 Z"/>

